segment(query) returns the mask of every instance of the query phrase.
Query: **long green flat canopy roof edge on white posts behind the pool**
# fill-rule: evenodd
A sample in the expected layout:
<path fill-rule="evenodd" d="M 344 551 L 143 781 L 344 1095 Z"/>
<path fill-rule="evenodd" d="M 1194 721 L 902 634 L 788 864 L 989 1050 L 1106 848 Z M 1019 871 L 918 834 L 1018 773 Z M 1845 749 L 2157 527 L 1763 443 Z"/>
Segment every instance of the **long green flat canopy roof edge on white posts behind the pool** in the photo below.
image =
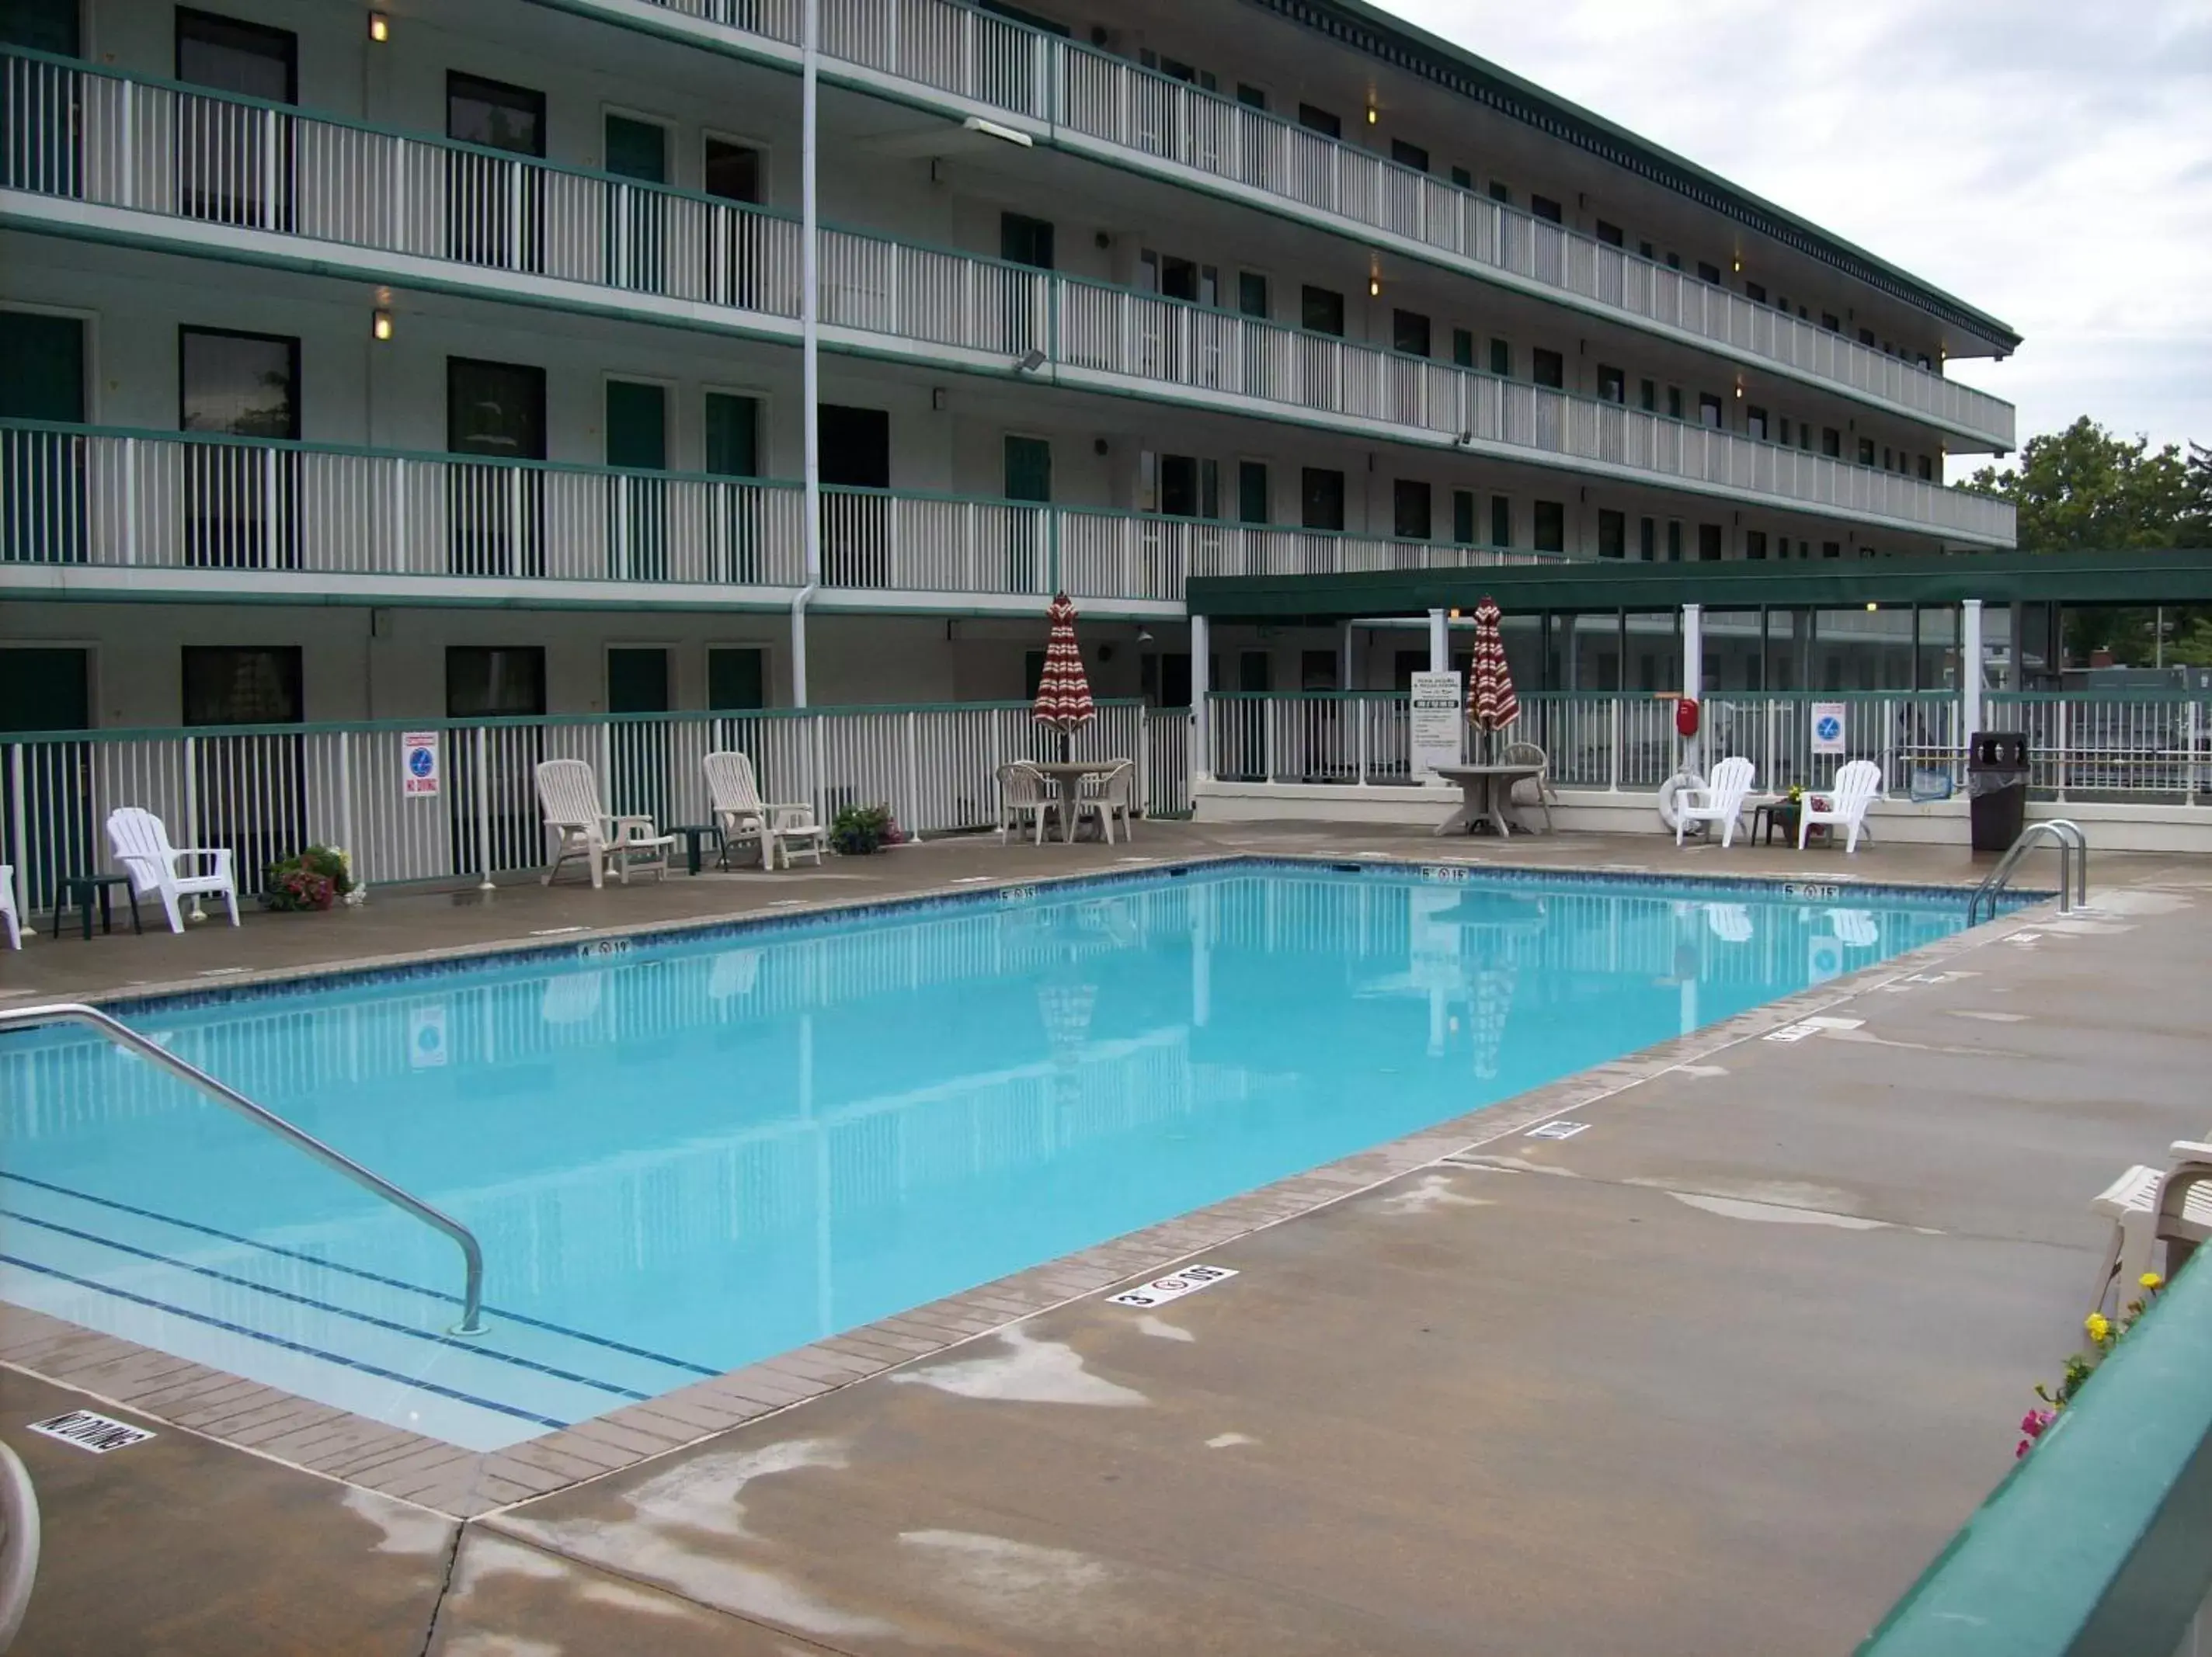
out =
<path fill-rule="evenodd" d="M 2212 549 L 2112 553 L 1938 553 L 1790 562 L 1644 564 L 1577 560 L 1352 575 L 1194 575 L 1192 615 L 1349 622 L 1471 611 L 1847 611 L 1865 604 L 2212 604 Z"/>

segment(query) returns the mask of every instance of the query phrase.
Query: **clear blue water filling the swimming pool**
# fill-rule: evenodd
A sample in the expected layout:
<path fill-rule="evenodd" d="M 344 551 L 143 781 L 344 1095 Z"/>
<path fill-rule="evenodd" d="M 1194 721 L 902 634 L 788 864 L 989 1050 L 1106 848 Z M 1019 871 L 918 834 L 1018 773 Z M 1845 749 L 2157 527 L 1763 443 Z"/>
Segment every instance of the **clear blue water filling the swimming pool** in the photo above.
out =
<path fill-rule="evenodd" d="M 1462 876 L 1460 869 L 1444 872 Z M 493 1449 L 1867 967 L 1962 898 L 1230 865 L 0 1042 L 0 1299 Z"/>

